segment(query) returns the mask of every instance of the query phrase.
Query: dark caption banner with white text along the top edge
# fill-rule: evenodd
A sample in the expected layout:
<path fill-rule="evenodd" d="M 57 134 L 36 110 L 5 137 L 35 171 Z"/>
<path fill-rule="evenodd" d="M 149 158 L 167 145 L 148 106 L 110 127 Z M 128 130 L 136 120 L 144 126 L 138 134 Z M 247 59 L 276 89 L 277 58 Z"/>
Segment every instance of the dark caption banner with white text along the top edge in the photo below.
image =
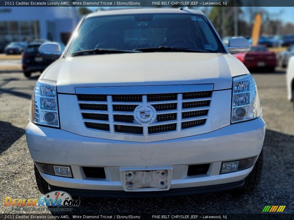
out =
<path fill-rule="evenodd" d="M 0 7 L 290 7 L 289 0 L 160 1 L 160 0 L 0 0 Z"/>

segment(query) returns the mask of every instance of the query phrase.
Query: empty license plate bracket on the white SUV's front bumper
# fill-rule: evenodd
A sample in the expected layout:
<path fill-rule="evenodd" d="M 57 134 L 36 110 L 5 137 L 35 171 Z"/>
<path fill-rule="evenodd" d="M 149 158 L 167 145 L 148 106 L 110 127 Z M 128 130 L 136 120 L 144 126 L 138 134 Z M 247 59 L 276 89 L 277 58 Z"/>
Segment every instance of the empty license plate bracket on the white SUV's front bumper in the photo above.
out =
<path fill-rule="evenodd" d="M 124 191 L 163 191 L 171 187 L 172 167 L 121 168 Z"/>

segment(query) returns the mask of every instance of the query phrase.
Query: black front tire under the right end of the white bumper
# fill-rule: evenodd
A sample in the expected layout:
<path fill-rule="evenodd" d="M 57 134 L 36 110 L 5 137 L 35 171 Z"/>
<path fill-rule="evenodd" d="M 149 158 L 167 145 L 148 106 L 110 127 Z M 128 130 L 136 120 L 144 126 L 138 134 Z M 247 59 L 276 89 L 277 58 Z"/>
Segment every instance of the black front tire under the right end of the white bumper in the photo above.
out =
<path fill-rule="evenodd" d="M 258 186 L 262 176 L 262 165 L 263 165 L 263 153 L 261 151 L 253 167 L 253 170 L 245 178 L 245 184 L 243 186 L 243 190 L 255 189 Z"/>

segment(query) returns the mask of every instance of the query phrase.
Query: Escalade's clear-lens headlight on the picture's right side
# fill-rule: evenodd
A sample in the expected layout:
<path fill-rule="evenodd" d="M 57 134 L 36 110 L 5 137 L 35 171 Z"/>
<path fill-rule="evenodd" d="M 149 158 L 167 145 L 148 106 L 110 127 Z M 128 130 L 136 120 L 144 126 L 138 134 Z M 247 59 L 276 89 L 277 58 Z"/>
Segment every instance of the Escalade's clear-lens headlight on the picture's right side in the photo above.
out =
<path fill-rule="evenodd" d="M 260 116 L 256 84 L 251 74 L 233 77 L 232 90 L 232 123 Z"/>

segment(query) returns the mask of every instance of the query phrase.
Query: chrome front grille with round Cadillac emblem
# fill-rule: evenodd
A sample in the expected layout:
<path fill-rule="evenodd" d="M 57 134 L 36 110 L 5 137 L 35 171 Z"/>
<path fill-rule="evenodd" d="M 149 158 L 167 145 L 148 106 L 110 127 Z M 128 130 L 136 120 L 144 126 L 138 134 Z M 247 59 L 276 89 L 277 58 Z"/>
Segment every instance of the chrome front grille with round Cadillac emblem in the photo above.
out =
<path fill-rule="evenodd" d="M 204 126 L 212 94 L 212 91 L 148 95 L 77 94 L 77 101 L 88 129 L 155 135 Z"/>

